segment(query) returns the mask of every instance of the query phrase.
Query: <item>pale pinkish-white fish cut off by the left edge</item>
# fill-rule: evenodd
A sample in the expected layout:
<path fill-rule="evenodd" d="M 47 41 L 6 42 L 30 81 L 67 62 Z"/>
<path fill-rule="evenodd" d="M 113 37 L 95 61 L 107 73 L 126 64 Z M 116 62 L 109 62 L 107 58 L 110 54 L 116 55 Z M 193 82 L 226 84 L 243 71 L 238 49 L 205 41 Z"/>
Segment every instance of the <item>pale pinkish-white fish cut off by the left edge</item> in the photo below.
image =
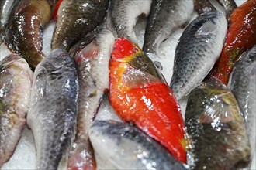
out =
<path fill-rule="evenodd" d="M 33 72 L 16 54 L 0 62 L 0 168 L 9 160 L 26 124 Z"/>

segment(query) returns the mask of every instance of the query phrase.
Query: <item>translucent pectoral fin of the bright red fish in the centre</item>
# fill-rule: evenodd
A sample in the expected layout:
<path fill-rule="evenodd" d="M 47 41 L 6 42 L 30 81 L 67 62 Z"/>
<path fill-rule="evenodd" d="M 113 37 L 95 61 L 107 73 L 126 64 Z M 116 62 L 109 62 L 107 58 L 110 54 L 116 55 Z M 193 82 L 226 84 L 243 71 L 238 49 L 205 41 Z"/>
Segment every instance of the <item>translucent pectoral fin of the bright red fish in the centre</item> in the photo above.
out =
<path fill-rule="evenodd" d="M 126 87 L 139 87 L 149 83 L 161 82 L 161 80 L 150 73 L 142 72 L 130 67 L 125 73 L 123 73 L 122 82 Z"/>

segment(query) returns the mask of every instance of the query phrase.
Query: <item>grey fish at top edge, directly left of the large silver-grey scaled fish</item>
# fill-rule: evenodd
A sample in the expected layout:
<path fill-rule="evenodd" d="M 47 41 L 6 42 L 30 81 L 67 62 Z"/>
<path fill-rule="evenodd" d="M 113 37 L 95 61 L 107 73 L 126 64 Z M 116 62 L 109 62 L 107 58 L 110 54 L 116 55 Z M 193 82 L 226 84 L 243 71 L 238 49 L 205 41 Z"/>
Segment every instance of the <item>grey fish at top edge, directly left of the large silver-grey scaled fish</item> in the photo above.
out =
<path fill-rule="evenodd" d="M 147 19 L 144 52 L 157 56 L 161 42 L 168 39 L 178 27 L 184 26 L 189 21 L 193 9 L 193 1 L 153 0 Z"/>

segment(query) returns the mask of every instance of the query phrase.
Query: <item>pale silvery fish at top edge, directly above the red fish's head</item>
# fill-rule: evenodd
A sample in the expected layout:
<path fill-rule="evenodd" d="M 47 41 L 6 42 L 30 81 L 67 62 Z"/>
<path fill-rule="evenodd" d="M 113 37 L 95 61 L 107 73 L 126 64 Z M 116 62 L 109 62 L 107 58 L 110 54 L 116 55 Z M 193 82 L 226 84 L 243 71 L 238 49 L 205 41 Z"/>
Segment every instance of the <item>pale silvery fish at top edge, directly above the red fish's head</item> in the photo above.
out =
<path fill-rule="evenodd" d="M 137 43 L 134 27 L 141 15 L 149 15 L 151 2 L 152 0 L 110 1 L 107 24 L 116 38 L 125 37 Z"/>

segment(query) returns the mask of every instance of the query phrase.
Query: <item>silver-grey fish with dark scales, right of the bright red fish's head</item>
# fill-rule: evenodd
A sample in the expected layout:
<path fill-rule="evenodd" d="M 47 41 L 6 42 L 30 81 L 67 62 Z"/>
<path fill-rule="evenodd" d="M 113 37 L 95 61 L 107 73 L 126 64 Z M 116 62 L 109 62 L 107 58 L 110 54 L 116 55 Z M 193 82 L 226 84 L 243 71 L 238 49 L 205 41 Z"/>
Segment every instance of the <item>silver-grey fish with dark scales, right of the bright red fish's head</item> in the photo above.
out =
<path fill-rule="evenodd" d="M 227 20 L 220 12 L 206 12 L 182 33 L 175 49 L 170 87 L 177 100 L 195 88 L 220 56 L 227 32 Z"/>

